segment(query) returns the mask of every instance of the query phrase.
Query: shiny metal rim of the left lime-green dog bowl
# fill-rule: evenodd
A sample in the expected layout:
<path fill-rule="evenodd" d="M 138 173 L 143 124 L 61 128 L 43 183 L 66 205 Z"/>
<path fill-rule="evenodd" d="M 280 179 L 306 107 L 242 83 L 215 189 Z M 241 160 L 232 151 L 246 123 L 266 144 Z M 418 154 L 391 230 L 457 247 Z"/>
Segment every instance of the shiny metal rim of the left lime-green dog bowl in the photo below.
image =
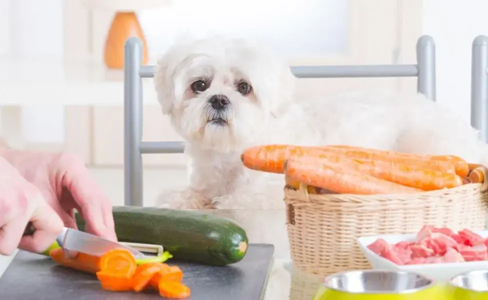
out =
<path fill-rule="evenodd" d="M 418 276 L 420 278 L 423 278 L 423 279 L 429 281 L 429 283 L 424 285 L 424 286 L 417 287 L 417 288 L 405 289 L 405 290 L 396 292 L 396 294 L 414 293 L 414 292 L 418 292 L 421 290 L 428 289 L 428 288 L 430 288 L 436 284 L 435 280 L 428 278 L 424 275 L 421 275 L 417 272 L 400 271 L 400 270 L 392 271 L 392 270 L 381 270 L 381 269 L 369 269 L 369 270 L 348 270 L 348 271 L 341 271 L 341 272 L 333 273 L 331 275 L 326 276 L 323 279 L 324 287 L 327 289 L 330 289 L 330 290 L 335 290 L 335 291 L 345 292 L 345 293 L 350 293 L 350 294 L 390 294 L 391 293 L 390 291 L 384 291 L 384 290 L 368 290 L 368 291 L 360 291 L 360 292 L 348 291 L 348 290 L 342 290 L 342 289 L 333 288 L 333 287 L 328 286 L 327 281 L 329 281 L 331 278 L 339 277 L 339 276 L 342 276 L 342 275 L 348 274 L 348 273 L 394 273 L 394 274 L 407 274 L 407 275 L 409 274 L 409 275 Z"/>

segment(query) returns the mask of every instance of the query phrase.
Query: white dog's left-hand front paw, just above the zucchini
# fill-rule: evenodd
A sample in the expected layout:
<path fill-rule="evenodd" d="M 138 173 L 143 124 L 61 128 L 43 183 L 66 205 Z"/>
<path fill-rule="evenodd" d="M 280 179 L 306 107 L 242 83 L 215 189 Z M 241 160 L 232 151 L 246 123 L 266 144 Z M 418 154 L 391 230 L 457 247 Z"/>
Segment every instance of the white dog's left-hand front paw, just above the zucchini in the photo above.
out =
<path fill-rule="evenodd" d="M 210 199 L 192 189 L 172 190 L 161 193 L 156 205 L 174 209 L 212 209 Z"/>

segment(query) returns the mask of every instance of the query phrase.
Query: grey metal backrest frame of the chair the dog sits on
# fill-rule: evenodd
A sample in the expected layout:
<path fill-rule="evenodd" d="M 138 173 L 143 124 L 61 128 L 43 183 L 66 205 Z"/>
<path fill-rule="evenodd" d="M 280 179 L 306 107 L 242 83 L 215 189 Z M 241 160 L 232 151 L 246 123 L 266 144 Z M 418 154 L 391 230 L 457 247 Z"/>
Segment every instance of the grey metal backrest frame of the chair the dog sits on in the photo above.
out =
<path fill-rule="evenodd" d="M 435 43 L 428 35 L 416 44 L 416 64 L 291 66 L 296 77 L 417 77 L 417 91 L 435 101 Z M 142 154 L 182 153 L 179 141 L 142 141 L 142 81 L 153 77 L 155 67 L 142 65 L 142 43 L 125 41 L 124 52 L 124 204 L 143 206 Z"/>

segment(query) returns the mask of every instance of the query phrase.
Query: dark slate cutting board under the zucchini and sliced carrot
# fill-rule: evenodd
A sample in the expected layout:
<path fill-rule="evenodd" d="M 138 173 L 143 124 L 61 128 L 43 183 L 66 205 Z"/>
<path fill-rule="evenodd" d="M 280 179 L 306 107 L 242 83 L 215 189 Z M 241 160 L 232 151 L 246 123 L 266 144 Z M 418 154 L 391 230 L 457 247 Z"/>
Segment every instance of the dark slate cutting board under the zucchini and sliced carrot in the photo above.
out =
<path fill-rule="evenodd" d="M 264 295 L 274 246 L 249 244 L 244 258 L 232 265 L 212 267 L 178 262 L 193 300 L 259 300 Z M 93 274 L 55 264 L 50 258 L 18 251 L 0 277 L 0 299 L 15 300 L 151 300 L 157 292 L 111 292 L 100 288 Z"/>

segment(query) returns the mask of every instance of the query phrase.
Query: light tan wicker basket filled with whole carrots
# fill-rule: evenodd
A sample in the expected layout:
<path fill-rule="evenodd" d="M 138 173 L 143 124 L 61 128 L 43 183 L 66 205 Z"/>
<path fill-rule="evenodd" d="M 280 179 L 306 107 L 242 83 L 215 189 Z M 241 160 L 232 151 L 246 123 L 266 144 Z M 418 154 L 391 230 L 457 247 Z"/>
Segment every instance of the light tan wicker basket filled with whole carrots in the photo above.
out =
<path fill-rule="evenodd" d="M 285 187 L 287 231 L 293 265 L 328 275 L 370 268 L 356 239 L 417 232 L 432 224 L 453 230 L 486 228 L 488 169 L 484 182 L 398 195 L 309 194 Z"/>

